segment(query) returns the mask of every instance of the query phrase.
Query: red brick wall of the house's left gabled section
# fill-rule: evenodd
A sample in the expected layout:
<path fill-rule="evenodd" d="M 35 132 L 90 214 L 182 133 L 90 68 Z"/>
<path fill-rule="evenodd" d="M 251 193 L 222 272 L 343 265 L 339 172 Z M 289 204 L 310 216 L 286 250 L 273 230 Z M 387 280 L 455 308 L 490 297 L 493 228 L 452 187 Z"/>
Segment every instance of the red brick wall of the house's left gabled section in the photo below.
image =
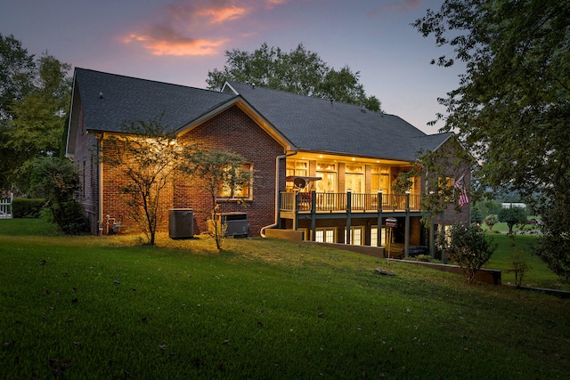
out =
<path fill-rule="evenodd" d="M 216 150 L 231 150 L 238 153 L 253 164 L 254 186 L 253 199 L 248 201 L 247 207 L 236 202 L 224 203 L 220 212 L 248 213 L 249 235 L 256 236 L 262 227 L 274 222 L 275 210 L 275 158 L 284 153 L 283 147 L 257 125 L 251 118 L 237 106 L 225 110 L 220 115 L 211 118 L 188 133 L 184 133 L 179 143 L 199 143 L 203 148 Z M 77 133 L 75 163 L 80 172 L 83 171 L 85 160 L 85 197 L 81 198 L 85 209 L 89 210 L 92 223 L 92 232 L 99 230 L 100 222 L 102 233 L 107 232 L 106 215 L 123 223 L 121 232 L 138 232 L 141 229 L 129 218 L 129 208 L 126 206 L 125 196 L 118 187 L 126 184 L 128 180 L 122 174 L 120 167 L 102 165 L 103 199 L 102 221 L 98 220 L 98 194 L 99 187 L 96 181 L 99 166 L 93 160 L 92 153 L 96 150 L 97 138 L 94 134 Z M 103 154 L 110 155 L 109 142 L 103 141 Z M 285 160 L 280 165 L 280 190 L 285 190 Z M 91 177 L 93 173 L 94 177 Z M 161 192 L 161 219 L 159 231 L 168 230 L 168 209 L 192 208 L 195 215 L 195 233 L 208 230 L 207 218 L 212 202 L 208 193 L 199 189 L 199 180 L 178 177 Z"/>

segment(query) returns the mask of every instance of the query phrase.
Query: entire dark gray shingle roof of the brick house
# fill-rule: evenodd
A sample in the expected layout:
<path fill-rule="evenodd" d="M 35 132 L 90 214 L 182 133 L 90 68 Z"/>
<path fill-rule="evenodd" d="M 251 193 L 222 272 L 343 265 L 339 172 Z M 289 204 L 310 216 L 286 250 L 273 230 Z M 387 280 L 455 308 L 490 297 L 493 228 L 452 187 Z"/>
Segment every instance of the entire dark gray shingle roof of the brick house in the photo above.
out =
<path fill-rule="evenodd" d="M 428 135 L 400 117 L 351 104 L 229 82 L 223 92 L 75 69 L 68 153 L 75 150 L 78 104 L 87 130 L 120 132 L 121 123 L 164 113 L 163 125 L 183 132 L 208 115 L 239 104 L 258 115 L 291 150 L 412 161 L 436 150 L 452 133 Z M 259 122 L 259 120 L 258 120 Z"/>

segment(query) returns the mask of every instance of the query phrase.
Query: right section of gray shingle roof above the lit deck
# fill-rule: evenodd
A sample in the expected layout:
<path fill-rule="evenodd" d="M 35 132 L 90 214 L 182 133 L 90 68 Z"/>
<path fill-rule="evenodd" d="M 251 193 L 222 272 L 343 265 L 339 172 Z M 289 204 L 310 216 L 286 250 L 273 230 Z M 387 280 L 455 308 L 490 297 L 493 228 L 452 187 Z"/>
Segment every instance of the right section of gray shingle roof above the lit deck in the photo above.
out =
<path fill-rule="evenodd" d="M 228 82 L 235 93 L 292 141 L 298 150 L 412 161 L 452 133 L 428 135 L 401 117 L 352 104 Z M 225 91 L 229 91 L 226 87 Z"/>

